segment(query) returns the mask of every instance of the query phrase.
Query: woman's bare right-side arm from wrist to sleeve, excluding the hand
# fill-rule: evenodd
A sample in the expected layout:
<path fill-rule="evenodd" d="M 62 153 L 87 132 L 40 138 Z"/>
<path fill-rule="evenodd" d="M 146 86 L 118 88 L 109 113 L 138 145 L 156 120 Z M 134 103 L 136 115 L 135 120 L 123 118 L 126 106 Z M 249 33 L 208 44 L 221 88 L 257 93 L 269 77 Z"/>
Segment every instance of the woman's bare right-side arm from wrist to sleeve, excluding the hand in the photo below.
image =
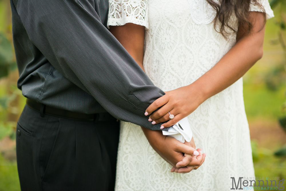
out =
<path fill-rule="evenodd" d="M 263 19 L 262 14 L 259 18 Z M 190 85 L 200 89 L 202 102 L 236 82 L 262 57 L 265 27 L 261 29 L 261 25 L 257 24 L 254 30 L 253 34 L 242 37 L 214 67 Z"/>

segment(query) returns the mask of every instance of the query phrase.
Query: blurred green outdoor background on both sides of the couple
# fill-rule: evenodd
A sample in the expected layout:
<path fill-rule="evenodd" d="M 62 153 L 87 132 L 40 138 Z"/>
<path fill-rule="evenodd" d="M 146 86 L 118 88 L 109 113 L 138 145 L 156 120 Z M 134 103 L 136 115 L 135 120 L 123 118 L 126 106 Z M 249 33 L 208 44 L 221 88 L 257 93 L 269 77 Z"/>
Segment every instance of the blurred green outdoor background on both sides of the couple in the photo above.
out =
<path fill-rule="evenodd" d="M 264 55 L 243 77 L 256 177 L 286 179 L 286 0 L 269 0 Z M 0 0 L 0 191 L 20 190 L 15 129 L 25 105 L 17 89 L 9 0 Z"/>

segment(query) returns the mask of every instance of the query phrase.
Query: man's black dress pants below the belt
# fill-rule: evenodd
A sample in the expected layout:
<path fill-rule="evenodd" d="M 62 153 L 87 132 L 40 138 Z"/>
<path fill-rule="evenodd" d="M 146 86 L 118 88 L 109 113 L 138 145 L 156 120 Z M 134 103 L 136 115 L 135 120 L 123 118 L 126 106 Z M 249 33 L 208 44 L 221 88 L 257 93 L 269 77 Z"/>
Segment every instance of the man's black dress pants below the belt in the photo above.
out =
<path fill-rule="evenodd" d="M 81 121 L 25 106 L 17 123 L 22 191 L 114 190 L 119 122 Z"/>

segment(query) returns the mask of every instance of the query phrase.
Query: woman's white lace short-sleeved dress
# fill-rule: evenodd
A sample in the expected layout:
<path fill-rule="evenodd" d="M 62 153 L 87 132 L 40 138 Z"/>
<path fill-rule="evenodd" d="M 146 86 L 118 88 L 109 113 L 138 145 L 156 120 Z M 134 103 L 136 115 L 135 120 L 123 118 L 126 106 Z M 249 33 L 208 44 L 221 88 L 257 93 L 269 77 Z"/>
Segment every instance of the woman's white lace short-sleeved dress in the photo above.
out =
<path fill-rule="evenodd" d="M 267 18 L 273 17 L 261 0 Z M 251 3 L 251 11 L 262 11 Z M 110 0 L 108 25 L 135 23 L 146 27 L 144 69 L 164 91 L 191 84 L 235 44 L 214 30 L 206 0 Z M 238 27 L 237 19 L 231 23 Z M 231 63 L 229 63 L 231 64 Z M 206 100 L 188 116 L 204 164 L 187 174 L 171 166 L 149 145 L 138 125 L 122 122 L 115 190 L 230 190 L 235 177 L 254 177 L 242 78 Z"/>

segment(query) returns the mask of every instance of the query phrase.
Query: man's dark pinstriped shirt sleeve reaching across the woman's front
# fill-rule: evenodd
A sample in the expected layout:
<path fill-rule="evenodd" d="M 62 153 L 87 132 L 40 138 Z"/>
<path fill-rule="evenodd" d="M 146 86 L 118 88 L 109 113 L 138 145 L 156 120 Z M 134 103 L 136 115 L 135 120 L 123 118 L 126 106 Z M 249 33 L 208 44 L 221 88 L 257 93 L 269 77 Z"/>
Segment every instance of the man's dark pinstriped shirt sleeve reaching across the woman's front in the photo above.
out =
<path fill-rule="evenodd" d="M 100 22 L 100 6 L 92 3 L 18 0 L 11 7 L 31 42 L 63 76 L 117 119 L 160 130 L 162 123 L 152 125 L 144 113 L 164 92 Z"/>

